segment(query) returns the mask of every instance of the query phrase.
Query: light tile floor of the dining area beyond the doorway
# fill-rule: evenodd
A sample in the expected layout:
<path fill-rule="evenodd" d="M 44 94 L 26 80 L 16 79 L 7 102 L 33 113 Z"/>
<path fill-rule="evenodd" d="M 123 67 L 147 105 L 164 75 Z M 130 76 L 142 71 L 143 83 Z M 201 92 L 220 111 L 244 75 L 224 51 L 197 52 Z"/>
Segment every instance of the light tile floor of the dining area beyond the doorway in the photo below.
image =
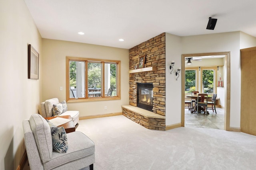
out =
<path fill-rule="evenodd" d="M 190 113 L 188 108 L 185 108 L 185 127 L 201 127 L 208 129 L 224 130 L 224 108 L 216 107 L 217 114 L 208 109 L 209 114 Z"/>

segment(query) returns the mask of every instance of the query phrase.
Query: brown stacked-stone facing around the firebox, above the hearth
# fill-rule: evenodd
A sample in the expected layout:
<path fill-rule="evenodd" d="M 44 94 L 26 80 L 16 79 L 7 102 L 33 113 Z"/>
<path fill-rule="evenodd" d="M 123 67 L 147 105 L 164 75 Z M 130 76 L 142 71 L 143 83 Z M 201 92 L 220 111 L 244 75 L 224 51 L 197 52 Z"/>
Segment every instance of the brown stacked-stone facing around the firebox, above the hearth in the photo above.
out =
<path fill-rule="evenodd" d="M 129 104 L 137 106 L 137 83 L 153 84 L 153 112 L 165 116 L 166 99 L 166 59 L 165 59 L 165 33 L 162 33 L 146 42 L 129 49 L 129 65 L 133 70 L 139 63 L 139 57 L 146 55 L 145 66 L 156 66 L 156 71 L 137 72 L 130 74 Z M 124 114 L 125 115 L 125 114 Z M 136 118 L 137 119 L 137 118 Z M 165 124 L 161 120 L 161 125 Z"/>

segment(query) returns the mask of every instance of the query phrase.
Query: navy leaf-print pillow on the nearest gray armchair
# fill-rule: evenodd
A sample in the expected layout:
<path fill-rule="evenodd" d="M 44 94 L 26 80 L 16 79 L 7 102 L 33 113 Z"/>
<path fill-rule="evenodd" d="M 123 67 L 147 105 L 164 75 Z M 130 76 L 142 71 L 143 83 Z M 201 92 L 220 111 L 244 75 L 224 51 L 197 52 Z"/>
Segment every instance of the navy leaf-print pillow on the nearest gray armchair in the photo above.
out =
<path fill-rule="evenodd" d="M 68 138 L 64 127 L 51 127 L 52 148 L 59 153 L 67 152 Z"/>

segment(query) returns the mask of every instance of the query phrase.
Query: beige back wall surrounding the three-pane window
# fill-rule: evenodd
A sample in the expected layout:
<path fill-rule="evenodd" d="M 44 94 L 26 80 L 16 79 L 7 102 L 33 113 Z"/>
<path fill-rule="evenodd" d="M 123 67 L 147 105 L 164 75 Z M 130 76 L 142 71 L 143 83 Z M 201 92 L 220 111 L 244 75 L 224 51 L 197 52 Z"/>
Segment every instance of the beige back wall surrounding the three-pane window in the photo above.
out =
<path fill-rule="evenodd" d="M 129 104 L 129 51 L 114 47 L 43 39 L 43 98 L 66 100 L 66 56 L 121 61 L 121 100 L 68 103 L 68 110 L 78 110 L 80 117 L 122 112 Z M 60 86 L 63 91 L 60 91 Z M 104 110 L 107 106 L 107 110 Z"/>

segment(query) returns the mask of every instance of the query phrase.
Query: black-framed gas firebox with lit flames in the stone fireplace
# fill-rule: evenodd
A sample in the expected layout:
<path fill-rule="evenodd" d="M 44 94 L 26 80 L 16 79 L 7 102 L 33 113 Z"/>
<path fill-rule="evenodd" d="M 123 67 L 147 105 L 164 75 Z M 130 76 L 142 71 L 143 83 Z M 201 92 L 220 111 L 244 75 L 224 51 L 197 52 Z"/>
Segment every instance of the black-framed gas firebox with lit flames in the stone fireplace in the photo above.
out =
<path fill-rule="evenodd" d="M 152 111 L 153 109 L 153 84 L 138 83 L 137 84 L 137 106 Z"/>

